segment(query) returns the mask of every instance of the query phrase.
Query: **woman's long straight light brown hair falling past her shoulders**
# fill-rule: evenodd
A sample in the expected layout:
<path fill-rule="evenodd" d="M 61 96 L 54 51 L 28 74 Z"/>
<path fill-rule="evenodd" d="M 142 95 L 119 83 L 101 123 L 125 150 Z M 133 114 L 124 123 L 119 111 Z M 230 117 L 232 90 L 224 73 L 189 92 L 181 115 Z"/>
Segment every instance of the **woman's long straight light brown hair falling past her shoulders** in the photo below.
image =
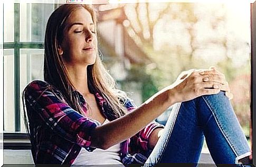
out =
<path fill-rule="evenodd" d="M 85 8 L 91 14 L 94 25 L 97 25 L 97 12 L 91 5 L 63 4 L 49 17 L 44 40 L 44 80 L 51 85 L 46 89 L 52 89 L 52 86 L 57 88 L 61 92 L 61 96 L 65 102 L 85 116 L 79 105 L 79 95 L 71 83 L 61 56 L 58 54 L 58 46 L 63 40 L 63 32 L 67 26 L 67 20 L 75 9 L 81 7 Z M 127 99 L 126 93 L 116 89 L 115 80 L 113 80 L 103 66 L 98 49 L 95 63 L 89 65 L 87 68 L 87 80 L 89 91 L 91 93 L 99 93 L 106 100 L 103 103 L 103 116 L 109 120 L 115 120 L 126 114 L 127 110 L 124 106 Z M 24 113 L 24 116 L 26 129 L 29 131 L 26 113 Z"/>

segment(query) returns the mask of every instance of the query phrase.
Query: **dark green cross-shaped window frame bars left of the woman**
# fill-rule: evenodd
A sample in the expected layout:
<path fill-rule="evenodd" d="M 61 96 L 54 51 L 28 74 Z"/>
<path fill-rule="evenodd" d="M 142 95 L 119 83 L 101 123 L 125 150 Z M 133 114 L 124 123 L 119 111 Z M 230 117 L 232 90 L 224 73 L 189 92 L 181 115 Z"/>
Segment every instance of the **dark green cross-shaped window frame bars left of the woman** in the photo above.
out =
<path fill-rule="evenodd" d="M 32 3 L 31 3 L 32 4 Z M 58 0 L 54 1 L 54 9 L 58 8 Z M 20 54 L 21 49 L 44 49 L 44 42 L 20 40 L 20 3 L 14 3 L 14 40 L 3 42 L 3 49 L 14 49 L 14 131 L 3 131 L 4 150 L 30 150 L 31 143 L 27 133 L 21 132 L 21 91 L 20 91 Z M 5 112 L 5 111 L 4 111 Z M 3 119 L 4 122 L 4 119 Z M 4 128 L 4 123 L 3 123 Z M 25 142 L 12 142 L 12 140 Z"/>

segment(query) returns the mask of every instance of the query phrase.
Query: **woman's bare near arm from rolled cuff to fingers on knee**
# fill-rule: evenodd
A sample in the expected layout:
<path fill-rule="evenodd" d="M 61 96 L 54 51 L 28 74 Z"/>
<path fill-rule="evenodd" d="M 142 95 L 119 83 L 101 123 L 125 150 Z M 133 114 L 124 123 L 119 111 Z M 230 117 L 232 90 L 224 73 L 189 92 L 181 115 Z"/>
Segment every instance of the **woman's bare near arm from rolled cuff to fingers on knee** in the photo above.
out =
<path fill-rule="evenodd" d="M 185 78 L 178 78 L 174 85 L 157 92 L 126 116 L 97 126 L 92 132 L 91 147 L 108 149 L 135 135 L 174 103 L 219 93 L 224 81 L 214 69 L 202 75 L 199 71 L 193 71 Z"/>

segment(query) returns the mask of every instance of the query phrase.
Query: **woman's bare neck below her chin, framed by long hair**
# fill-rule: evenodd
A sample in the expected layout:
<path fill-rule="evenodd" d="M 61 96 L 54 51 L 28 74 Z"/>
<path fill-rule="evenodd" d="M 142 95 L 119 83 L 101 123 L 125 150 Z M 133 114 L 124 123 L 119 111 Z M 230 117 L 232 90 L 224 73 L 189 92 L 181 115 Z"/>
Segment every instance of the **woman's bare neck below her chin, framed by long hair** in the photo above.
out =
<path fill-rule="evenodd" d="M 82 93 L 83 96 L 90 94 L 88 83 L 87 83 L 87 67 L 88 66 L 79 66 L 79 65 L 69 65 L 66 64 L 69 77 L 75 90 Z"/>

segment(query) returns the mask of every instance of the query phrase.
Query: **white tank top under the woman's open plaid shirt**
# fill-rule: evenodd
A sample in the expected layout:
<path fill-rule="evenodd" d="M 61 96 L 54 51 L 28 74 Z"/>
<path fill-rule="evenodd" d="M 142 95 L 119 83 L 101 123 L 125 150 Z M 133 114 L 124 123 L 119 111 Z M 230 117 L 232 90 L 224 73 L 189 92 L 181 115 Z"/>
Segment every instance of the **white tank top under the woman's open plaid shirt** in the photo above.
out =
<path fill-rule="evenodd" d="M 102 124 L 106 124 L 107 122 L 109 122 L 108 119 L 106 119 Z M 124 166 L 121 163 L 121 158 L 119 156 L 120 150 L 120 143 L 113 145 L 107 150 L 95 149 L 92 152 L 82 148 L 72 165 L 115 164 L 115 166 L 118 167 Z"/>

